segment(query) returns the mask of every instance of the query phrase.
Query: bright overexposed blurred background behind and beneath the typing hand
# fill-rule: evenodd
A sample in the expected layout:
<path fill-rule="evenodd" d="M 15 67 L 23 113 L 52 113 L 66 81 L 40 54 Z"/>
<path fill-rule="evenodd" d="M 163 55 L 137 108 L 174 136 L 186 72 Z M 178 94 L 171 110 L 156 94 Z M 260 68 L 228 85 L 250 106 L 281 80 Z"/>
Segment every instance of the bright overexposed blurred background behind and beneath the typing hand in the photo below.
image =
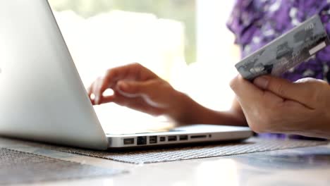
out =
<path fill-rule="evenodd" d="M 240 52 L 226 27 L 233 3 L 49 0 L 85 87 L 108 68 L 138 62 L 216 110 L 229 109 L 234 97 L 228 82 L 237 74 Z M 104 130 L 113 133 L 169 125 L 166 118 L 115 104 L 94 108 Z"/>

